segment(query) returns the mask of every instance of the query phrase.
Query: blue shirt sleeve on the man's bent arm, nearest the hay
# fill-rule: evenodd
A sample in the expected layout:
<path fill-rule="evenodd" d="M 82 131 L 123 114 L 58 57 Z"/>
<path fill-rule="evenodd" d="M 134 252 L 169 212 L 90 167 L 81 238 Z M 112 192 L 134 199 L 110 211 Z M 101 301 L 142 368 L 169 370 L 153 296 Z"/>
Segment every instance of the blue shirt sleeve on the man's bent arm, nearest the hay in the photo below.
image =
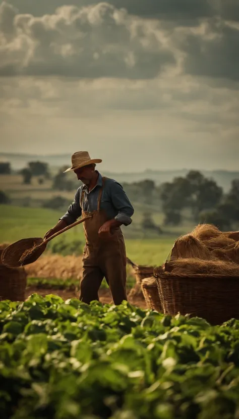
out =
<path fill-rule="evenodd" d="M 132 223 L 131 217 L 134 214 L 134 208 L 120 183 L 111 183 L 110 198 L 113 206 L 118 212 L 114 217 L 115 220 L 125 226 L 129 226 Z"/>

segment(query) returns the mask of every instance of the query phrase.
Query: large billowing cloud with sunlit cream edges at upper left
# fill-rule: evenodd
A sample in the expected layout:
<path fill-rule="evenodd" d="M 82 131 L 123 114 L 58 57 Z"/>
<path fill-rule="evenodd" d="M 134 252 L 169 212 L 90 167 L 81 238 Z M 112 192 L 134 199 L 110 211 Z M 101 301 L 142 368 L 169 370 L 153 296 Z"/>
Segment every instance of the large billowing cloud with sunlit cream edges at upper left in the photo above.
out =
<path fill-rule="evenodd" d="M 108 3 L 33 17 L 0 7 L 0 75 L 153 78 L 175 63 L 158 25 Z"/>

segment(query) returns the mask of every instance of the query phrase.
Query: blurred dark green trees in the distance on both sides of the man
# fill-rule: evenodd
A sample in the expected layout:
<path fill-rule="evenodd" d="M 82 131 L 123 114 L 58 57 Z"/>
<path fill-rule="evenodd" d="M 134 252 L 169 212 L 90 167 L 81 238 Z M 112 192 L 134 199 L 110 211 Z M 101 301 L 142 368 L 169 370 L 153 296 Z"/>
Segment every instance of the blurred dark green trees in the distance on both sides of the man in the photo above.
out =
<path fill-rule="evenodd" d="M 37 177 L 39 184 L 50 179 L 52 190 L 74 193 L 80 182 L 73 178 L 72 174 L 63 173 L 66 168 L 66 166 L 61 167 L 52 175 L 47 163 L 29 162 L 20 174 L 25 184 L 30 184 L 33 177 Z M 1 173 L 10 174 L 10 164 L 0 163 Z M 180 225 L 186 214 L 195 223 L 215 224 L 222 230 L 230 229 L 234 223 L 239 222 L 239 179 L 231 182 L 228 193 L 223 193 L 223 189 L 213 179 L 194 170 L 189 171 L 185 177 L 175 177 L 171 182 L 160 185 L 156 185 L 151 179 L 145 179 L 133 183 L 124 182 L 122 186 L 133 203 L 139 202 L 146 208 L 151 208 L 144 217 L 145 226 L 148 225 L 148 228 L 150 226 L 153 228 L 153 222 L 150 219 L 150 212 L 154 211 L 153 208 L 163 213 L 164 226 Z M 0 194 L 1 200 L 3 201 L 4 197 L 1 198 Z M 44 203 L 55 209 L 65 204 L 61 196 Z"/>

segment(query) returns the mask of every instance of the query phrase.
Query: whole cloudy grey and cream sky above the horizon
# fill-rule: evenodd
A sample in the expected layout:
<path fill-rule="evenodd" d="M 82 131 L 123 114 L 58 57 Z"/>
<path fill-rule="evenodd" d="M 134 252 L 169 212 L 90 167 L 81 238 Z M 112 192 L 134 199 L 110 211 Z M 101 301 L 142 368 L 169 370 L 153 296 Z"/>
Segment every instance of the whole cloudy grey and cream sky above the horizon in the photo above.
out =
<path fill-rule="evenodd" d="M 238 169 L 238 0 L 0 0 L 1 151 Z"/>

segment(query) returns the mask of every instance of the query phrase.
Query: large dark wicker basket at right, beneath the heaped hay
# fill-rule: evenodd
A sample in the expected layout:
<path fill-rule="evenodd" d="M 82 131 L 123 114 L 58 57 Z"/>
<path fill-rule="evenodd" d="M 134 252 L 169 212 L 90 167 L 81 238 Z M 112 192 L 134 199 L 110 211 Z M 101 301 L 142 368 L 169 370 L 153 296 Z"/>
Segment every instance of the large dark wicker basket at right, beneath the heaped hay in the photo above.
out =
<path fill-rule="evenodd" d="M 239 319 L 239 278 L 222 275 L 176 275 L 154 270 L 163 313 L 201 317 L 212 325 Z"/>

